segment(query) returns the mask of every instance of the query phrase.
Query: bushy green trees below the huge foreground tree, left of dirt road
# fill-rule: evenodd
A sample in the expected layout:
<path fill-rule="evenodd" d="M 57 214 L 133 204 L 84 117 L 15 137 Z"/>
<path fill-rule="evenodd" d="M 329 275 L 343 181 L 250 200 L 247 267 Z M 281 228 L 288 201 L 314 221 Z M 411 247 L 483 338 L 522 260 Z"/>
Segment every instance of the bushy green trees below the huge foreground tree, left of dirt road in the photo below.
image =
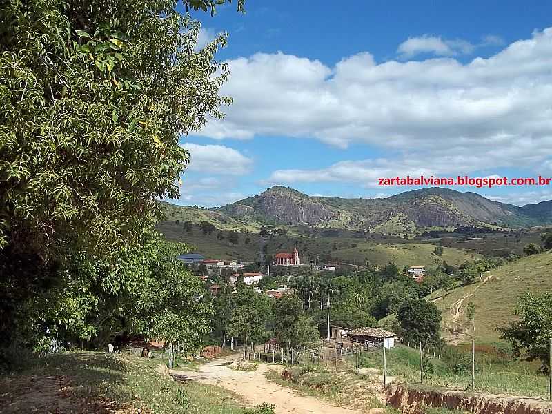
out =
<path fill-rule="evenodd" d="M 62 344 L 77 339 L 103 348 L 124 333 L 196 351 L 210 331 L 212 309 L 197 301 L 201 282 L 176 259 L 187 249 L 150 235 L 141 249 L 123 249 L 115 266 L 71 257 L 56 286 L 23 302 L 16 318 L 21 339 L 35 351 L 44 351 L 55 337 Z"/>

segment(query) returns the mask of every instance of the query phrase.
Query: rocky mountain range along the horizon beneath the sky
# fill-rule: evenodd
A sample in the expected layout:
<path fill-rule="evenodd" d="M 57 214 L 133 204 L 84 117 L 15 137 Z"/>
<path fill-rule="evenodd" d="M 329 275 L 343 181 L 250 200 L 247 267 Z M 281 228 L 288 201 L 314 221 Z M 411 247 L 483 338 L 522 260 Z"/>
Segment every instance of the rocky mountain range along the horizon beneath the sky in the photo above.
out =
<path fill-rule="evenodd" d="M 226 230 L 290 225 L 412 235 L 463 226 L 520 228 L 552 224 L 552 201 L 519 207 L 472 192 L 438 187 L 385 199 L 346 199 L 313 197 L 275 186 L 218 208 L 166 206 L 169 219 L 207 220 Z"/>

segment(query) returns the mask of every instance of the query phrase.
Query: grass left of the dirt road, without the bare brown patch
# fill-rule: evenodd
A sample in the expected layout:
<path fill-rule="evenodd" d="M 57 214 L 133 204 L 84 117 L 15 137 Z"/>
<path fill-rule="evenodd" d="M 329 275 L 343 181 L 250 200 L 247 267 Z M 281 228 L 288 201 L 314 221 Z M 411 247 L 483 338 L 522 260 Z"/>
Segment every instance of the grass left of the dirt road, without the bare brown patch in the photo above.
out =
<path fill-rule="evenodd" d="M 174 381 L 156 373 L 157 364 L 159 362 L 155 359 L 125 354 L 110 355 L 88 351 L 61 353 L 32 361 L 23 372 L 1 378 L 0 389 L 9 390 L 14 381 L 28 379 L 32 383 L 37 382 L 39 377 L 64 375 L 68 376 L 75 404 L 85 407 L 92 407 L 90 402 L 99 401 L 108 402 L 109 409 L 119 409 L 120 412 L 141 409 L 142 413 L 156 414 L 270 413 L 244 407 L 244 402 L 239 397 L 223 388 Z M 2 402 L 6 403 L 9 399 L 9 393 L 7 396 L 1 395 L 0 408 Z M 90 411 L 79 412 L 112 412 L 107 407 L 101 407 L 103 406 L 95 406 Z"/>

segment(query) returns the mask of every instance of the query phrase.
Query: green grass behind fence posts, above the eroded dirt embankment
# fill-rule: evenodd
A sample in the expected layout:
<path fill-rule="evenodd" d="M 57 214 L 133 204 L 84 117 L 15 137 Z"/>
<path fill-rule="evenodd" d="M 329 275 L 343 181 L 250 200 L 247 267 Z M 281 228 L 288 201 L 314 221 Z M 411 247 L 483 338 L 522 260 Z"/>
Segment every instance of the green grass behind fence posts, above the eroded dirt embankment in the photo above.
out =
<path fill-rule="evenodd" d="M 527 397 L 546 397 L 548 377 L 538 373 L 539 364 L 515 361 L 493 346 L 476 348 L 475 386 L 477 391 Z M 420 384 L 420 354 L 413 348 L 397 346 L 386 351 L 387 373 L 407 384 Z M 359 366 L 382 369 L 382 351 L 363 353 Z M 352 363 L 352 362 L 351 362 Z M 471 390 L 471 351 L 448 347 L 442 358 L 424 359 L 424 382 L 432 387 Z"/>

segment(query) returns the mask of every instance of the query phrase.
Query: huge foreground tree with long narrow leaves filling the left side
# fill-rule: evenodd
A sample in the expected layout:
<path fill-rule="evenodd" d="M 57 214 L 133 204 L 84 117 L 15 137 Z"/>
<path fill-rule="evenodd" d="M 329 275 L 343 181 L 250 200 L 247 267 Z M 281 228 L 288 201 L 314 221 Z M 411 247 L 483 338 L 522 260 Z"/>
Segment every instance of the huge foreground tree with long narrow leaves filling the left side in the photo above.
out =
<path fill-rule="evenodd" d="M 194 10 L 219 3 L 184 0 Z M 226 37 L 197 50 L 199 23 L 174 1 L 8 1 L 0 21 L 6 344 L 19 304 L 88 285 L 68 281 L 72 260 L 117 267 L 120 250 L 139 246 L 163 216 L 156 199 L 179 195 L 189 158 L 179 137 L 222 117 L 230 99 L 219 97 L 228 68 L 215 61 Z"/>

